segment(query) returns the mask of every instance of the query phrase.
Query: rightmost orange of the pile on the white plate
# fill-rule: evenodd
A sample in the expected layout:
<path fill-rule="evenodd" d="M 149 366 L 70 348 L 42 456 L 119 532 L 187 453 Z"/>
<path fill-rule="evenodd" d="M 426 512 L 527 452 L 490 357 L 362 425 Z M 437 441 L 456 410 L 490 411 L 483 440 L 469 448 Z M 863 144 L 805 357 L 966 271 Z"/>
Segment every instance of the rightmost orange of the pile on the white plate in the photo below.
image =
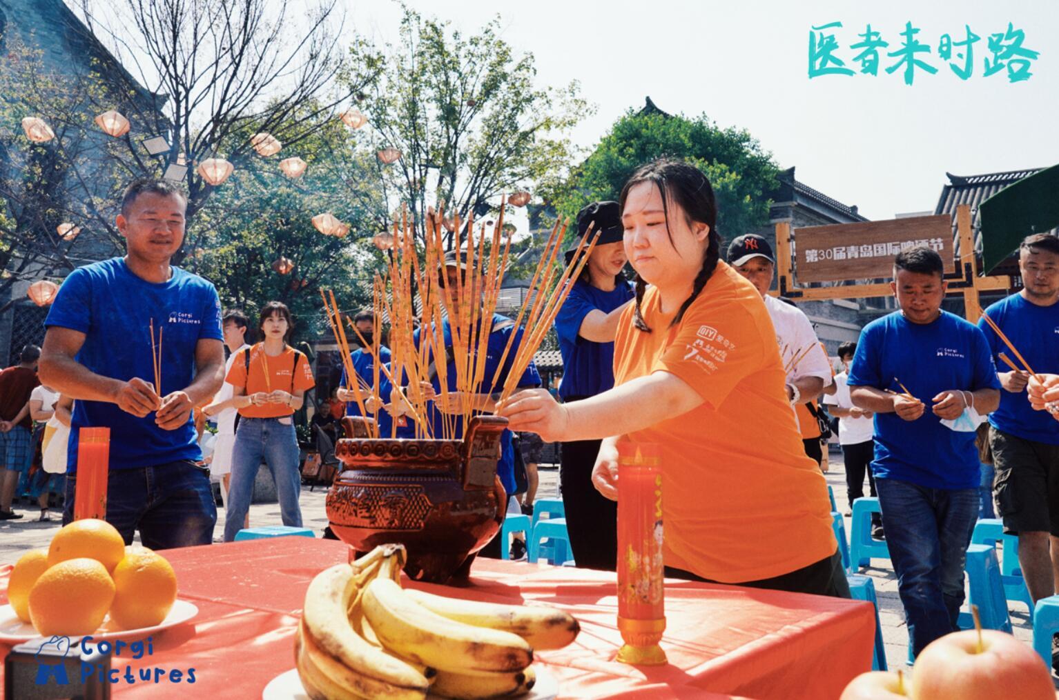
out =
<path fill-rule="evenodd" d="M 119 629 L 152 627 L 177 600 L 177 574 L 161 554 L 141 549 L 114 568 L 114 590 L 110 619 Z"/>

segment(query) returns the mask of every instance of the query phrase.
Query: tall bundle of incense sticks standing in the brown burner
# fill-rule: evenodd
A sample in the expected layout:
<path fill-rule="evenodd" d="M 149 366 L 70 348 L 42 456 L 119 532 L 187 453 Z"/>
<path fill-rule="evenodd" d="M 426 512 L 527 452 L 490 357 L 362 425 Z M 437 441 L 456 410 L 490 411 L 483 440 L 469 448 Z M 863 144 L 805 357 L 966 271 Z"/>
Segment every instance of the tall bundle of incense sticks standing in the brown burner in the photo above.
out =
<path fill-rule="evenodd" d="M 374 346 L 369 351 L 376 361 L 376 372 L 381 370 L 393 383 L 397 398 L 405 404 L 400 408 L 415 420 L 417 438 L 453 439 L 464 435 L 470 419 L 488 405 L 488 394 L 497 393 L 500 388 L 503 401 L 518 388 L 519 379 L 533 361 L 566 301 L 572 281 L 580 275 L 595 245 L 596 238 L 590 229 L 580 240 L 571 264 L 560 269 L 556 258 L 567 224 L 556 222 L 515 319 L 517 329 L 523 328 L 525 323 L 521 340 L 516 346 L 515 339 L 520 334 L 511 332 L 497 371 L 488 376 L 489 336 L 510 252 L 510 237 L 503 233 L 503 204 L 491 232 L 484 225 L 475 227 L 472 216 L 466 222 L 461 221 L 459 214 L 451 217 L 453 250 L 463 268 L 451 283 L 444 270 L 444 204 L 437 210 L 428 211 L 421 237 L 416 236 L 406 213 L 402 211 L 400 221 L 394 222 L 394 246 L 387 271 L 376 277 L 373 289 L 376 318 L 384 316 L 391 323 L 390 367 L 378 362 L 378 328 L 376 342 L 364 345 Z M 447 333 L 443 332 L 446 328 Z M 337 332 L 336 337 L 340 333 Z M 341 340 L 339 345 L 342 347 Z M 503 386 L 498 387 L 504 367 L 508 368 L 507 376 Z M 347 369 L 346 373 L 351 371 Z M 434 379 L 442 387 L 436 397 L 429 387 Z M 373 392 L 378 391 L 378 386 L 376 375 Z M 450 386 L 455 390 L 447 392 Z M 441 411 L 438 425 L 423 420 L 432 415 L 431 403 L 445 409 Z M 434 435 L 435 431 L 439 434 Z"/>

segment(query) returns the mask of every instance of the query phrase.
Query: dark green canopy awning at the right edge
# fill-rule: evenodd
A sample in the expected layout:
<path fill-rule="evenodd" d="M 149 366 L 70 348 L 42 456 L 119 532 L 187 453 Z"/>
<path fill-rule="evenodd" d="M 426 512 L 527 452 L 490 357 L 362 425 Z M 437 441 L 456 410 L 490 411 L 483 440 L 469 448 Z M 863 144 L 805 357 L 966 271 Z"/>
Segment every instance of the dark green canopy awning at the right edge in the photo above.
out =
<path fill-rule="evenodd" d="M 985 274 L 1030 234 L 1059 226 L 1059 165 L 1005 187 L 979 207 Z"/>

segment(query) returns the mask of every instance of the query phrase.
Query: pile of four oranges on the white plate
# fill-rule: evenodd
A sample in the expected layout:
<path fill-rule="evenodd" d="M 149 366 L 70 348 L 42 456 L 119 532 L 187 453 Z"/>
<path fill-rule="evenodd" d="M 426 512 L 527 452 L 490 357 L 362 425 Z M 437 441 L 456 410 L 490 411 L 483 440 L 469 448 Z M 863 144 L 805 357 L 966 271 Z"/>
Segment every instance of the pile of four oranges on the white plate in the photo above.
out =
<path fill-rule="evenodd" d="M 110 613 L 108 628 L 160 624 L 177 600 L 177 576 L 165 557 L 125 546 L 105 520 L 75 520 L 59 530 L 48 550 L 19 558 L 7 600 L 39 634 L 91 634 Z"/>

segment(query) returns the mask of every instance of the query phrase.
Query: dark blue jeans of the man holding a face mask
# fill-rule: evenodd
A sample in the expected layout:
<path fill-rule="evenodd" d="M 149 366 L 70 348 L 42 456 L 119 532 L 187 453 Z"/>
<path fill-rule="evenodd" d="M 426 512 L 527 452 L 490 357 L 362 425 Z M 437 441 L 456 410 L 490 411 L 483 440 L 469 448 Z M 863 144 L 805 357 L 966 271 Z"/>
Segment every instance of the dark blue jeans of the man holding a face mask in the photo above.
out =
<path fill-rule="evenodd" d="M 912 650 L 918 655 L 956 630 L 979 490 L 928 489 L 894 479 L 876 479 L 875 487 Z"/>

